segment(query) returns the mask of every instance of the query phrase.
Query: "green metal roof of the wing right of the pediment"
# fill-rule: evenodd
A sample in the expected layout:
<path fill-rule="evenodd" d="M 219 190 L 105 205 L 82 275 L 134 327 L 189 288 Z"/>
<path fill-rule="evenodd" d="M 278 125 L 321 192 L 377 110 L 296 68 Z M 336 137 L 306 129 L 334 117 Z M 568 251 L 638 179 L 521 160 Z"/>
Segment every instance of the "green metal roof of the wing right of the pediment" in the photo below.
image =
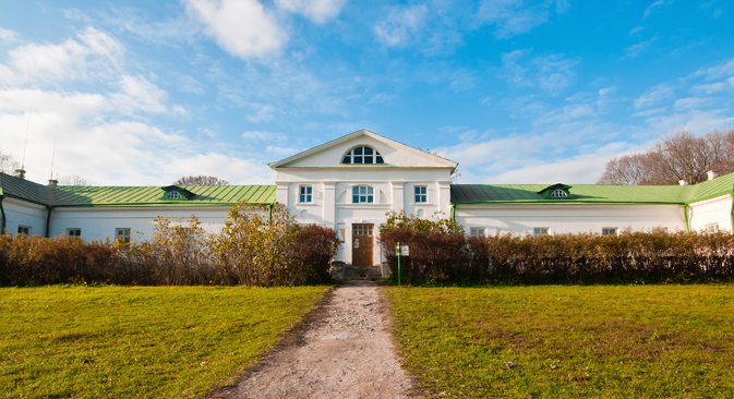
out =
<path fill-rule="evenodd" d="M 452 204 L 689 204 L 732 193 L 734 173 L 693 185 L 576 184 L 573 198 L 546 198 L 552 184 L 453 184 Z"/>

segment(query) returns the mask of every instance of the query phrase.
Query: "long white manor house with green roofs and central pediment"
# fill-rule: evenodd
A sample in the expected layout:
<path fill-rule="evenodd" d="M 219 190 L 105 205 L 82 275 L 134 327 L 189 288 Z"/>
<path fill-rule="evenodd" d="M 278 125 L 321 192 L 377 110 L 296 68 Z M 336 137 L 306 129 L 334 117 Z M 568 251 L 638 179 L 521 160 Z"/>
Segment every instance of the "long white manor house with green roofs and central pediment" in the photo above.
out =
<path fill-rule="evenodd" d="M 337 259 L 380 265 L 378 228 L 388 210 L 441 211 L 471 234 L 634 230 L 729 230 L 734 173 L 693 185 L 452 184 L 457 162 L 360 130 L 269 164 L 275 185 L 58 186 L 0 173 L 2 231 L 84 240 L 153 235 L 154 219 L 195 215 L 224 227 L 238 202 L 285 204 L 301 223 L 334 228 Z"/>

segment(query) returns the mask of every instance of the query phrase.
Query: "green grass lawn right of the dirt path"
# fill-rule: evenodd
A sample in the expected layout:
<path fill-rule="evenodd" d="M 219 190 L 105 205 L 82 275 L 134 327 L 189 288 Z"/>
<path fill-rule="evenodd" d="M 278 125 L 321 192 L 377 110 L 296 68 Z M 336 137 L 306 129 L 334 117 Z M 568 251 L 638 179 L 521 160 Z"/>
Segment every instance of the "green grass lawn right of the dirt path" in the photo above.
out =
<path fill-rule="evenodd" d="M 390 287 L 387 294 L 398 351 L 430 396 L 734 397 L 731 285 Z"/>

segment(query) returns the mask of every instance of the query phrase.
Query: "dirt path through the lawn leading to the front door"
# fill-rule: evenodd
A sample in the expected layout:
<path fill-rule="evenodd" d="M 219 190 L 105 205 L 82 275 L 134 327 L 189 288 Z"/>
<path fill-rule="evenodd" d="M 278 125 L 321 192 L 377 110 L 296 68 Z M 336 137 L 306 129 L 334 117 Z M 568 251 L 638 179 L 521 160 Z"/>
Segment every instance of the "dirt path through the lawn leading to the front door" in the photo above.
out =
<path fill-rule="evenodd" d="M 221 397 L 421 397 L 398 364 L 384 306 L 374 282 L 337 288 L 301 342 L 273 353 Z"/>

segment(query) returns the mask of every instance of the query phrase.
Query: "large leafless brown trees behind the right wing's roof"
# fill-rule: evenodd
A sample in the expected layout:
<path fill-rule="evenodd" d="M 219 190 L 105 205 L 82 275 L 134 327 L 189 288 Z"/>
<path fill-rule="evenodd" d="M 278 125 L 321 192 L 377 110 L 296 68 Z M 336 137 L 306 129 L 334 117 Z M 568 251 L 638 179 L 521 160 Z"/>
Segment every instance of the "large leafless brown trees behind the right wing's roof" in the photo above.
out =
<path fill-rule="evenodd" d="M 597 184 L 670 185 L 708 179 L 707 172 L 734 172 L 734 129 L 701 136 L 687 131 L 667 133 L 647 153 L 613 158 Z"/>

